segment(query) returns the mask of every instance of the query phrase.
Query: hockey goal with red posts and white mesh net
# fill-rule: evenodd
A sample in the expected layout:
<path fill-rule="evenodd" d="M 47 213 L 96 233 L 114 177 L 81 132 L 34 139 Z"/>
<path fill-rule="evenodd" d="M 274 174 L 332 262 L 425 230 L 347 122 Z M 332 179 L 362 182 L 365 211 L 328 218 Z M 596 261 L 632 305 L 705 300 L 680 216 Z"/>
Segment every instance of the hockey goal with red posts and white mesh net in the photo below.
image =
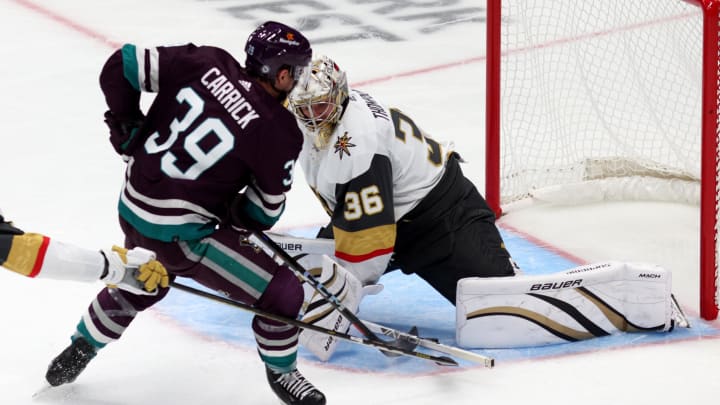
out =
<path fill-rule="evenodd" d="M 486 196 L 700 206 L 718 314 L 715 0 L 488 0 Z"/>

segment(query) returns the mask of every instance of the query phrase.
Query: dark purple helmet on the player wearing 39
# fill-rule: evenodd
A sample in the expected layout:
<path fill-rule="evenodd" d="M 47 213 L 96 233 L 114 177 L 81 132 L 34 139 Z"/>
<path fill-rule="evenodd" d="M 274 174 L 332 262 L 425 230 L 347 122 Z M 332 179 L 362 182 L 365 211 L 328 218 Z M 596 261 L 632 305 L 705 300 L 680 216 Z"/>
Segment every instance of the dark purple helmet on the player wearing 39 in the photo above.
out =
<path fill-rule="evenodd" d="M 299 31 L 276 21 L 258 26 L 245 44 L 245 68 L 263 79 L 272 80 L 277 72 L 290 67 L 296 79 L 310 63 L 310 42 Z"/>

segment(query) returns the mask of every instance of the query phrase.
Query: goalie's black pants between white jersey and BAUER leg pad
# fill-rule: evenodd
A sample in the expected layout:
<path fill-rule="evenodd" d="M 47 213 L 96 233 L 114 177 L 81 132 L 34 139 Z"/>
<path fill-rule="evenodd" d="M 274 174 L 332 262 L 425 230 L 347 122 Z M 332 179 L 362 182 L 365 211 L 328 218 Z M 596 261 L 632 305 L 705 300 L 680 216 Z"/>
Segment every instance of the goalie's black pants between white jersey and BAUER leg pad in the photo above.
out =
<path fill-rule="evenodd" d="M 453 304 L 462 278 L 515 274 L 495 216 L 463 175 L 456 155 L 441 182 L 398 222 L 397 230 L 389 268 L 416 273 Z"/>

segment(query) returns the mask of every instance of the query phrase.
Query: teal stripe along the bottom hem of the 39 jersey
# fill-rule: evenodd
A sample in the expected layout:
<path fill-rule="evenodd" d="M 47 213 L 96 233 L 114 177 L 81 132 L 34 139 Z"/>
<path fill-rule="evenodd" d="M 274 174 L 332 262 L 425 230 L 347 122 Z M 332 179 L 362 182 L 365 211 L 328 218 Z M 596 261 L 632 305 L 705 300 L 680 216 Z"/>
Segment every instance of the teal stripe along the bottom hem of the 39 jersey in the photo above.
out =
<path fill-rule="evenodd" d="M 122 201 L 118 203 L 118 211 L 120 212 L 120 216 L 141 234 L 163 242 L 202 239 L 215 231 L 215 223 L 213 222 L 194 222 L 180 225 L 164 225 L 149 222 L 140 218 L 140 216 L 123 204 Z"/>

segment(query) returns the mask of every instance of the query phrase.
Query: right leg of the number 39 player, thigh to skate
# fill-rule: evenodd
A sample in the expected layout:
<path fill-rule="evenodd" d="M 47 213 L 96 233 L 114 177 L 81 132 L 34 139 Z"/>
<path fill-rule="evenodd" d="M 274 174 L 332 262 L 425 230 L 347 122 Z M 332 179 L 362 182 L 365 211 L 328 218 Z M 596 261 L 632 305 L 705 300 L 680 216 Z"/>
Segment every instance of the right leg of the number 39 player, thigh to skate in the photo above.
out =
<path fill-rule="evenodd" d="M 181 243 L 183 254 L 198 265 L 183 275 L 232 299 L 295 319 L 303 301 L 298 278 L 262 250 L 242 243 L 249 234 L 224 228 L 192 243 Z M 268 382 L 285 403 L 325 404 L 325 396 L 297 370 L 299 330 L 262 316 L 252 321 L 258 353 Z"/>

